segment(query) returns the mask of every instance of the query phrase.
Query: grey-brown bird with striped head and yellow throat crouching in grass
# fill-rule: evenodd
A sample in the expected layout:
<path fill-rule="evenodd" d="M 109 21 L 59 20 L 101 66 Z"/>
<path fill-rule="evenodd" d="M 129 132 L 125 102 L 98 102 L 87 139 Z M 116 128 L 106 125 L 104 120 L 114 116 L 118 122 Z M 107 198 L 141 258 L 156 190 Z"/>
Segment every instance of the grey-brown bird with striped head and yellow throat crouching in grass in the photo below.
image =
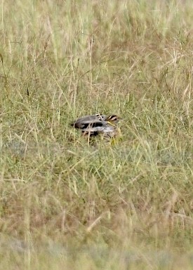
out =
<path fill-rule="evenodd" d="M 117 126 L 120 120 L 121 117 L 116 114 L 110 114 L 109 116 L 94 114 L 77 119 L 71 126 L 81 129 L 84 136 L 96 137 L 100 135 L 102 138 L 111 140 L 121 133 Z"/>

